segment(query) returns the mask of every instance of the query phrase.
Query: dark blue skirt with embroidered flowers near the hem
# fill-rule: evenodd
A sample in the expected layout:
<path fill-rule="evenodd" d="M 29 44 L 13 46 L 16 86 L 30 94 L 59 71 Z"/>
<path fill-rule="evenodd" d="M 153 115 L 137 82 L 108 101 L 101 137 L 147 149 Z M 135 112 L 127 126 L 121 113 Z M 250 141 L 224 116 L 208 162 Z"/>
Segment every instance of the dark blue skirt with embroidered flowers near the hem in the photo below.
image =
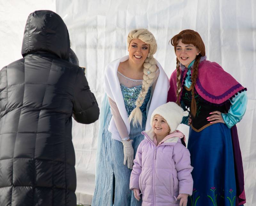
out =
<path fill-rule="evenodd" d="M 194 167 L 189 206 L 235 206 L 236 179 L 231 130 L 216 123 L 200 132 L 190 128 L 188 150 Z"/>

